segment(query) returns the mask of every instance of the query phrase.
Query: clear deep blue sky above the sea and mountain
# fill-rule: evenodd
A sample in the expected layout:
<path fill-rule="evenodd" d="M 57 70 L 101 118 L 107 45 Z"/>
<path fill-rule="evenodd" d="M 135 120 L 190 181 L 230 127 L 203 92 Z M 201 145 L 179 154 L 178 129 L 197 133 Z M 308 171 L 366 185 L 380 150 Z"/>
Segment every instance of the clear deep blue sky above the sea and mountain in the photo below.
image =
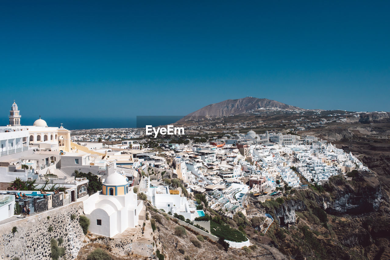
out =
<path fill-rule="evenodd" d="M 0 116 L 14 99 L 25 118 L 119 118 L 245 96 L 389 111 L 389 11 L 389 1 L 1 1 Z"/>

